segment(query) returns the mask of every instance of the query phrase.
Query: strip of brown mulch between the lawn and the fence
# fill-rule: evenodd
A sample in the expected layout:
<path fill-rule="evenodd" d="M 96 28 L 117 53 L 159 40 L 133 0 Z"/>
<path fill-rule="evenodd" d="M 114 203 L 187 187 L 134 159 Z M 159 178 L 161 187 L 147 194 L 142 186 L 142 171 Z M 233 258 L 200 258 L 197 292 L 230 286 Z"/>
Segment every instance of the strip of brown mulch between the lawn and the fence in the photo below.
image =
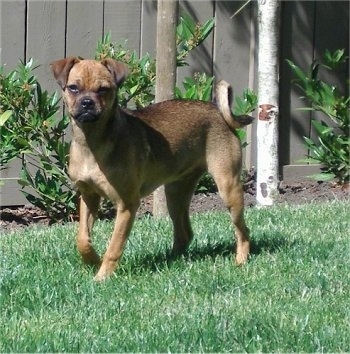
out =
<path fill-rule="evenodd" d="M 256 183 L 250 179 L 245 185 L 245 205 L 256 205 Z M 349 200 L 349 188 L 330 182 L 295 181 L 281 182 L 278 204 L 305 204 L 331 200 Z M 191 203 L 191 213 L 224 210 L 218 193 L 196 194 Z M 152 214 L 152 196 L 142 200 L 137 217 Z M 0 209 L 0 229 L 10 231 L 31 224 L 49 225 L 52 223 L 44 211 L 31 205 Z"/>

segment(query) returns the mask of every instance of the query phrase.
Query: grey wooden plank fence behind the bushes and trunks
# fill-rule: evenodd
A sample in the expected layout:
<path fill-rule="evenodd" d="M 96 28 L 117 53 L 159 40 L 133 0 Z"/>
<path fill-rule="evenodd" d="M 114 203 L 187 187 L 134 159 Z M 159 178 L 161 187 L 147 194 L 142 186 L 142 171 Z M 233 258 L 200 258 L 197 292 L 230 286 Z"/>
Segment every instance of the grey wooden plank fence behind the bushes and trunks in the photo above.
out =
<path fill-rule="evenodd" d="M 237 94 L 257 87 L 257 5 L 252 1 L 231 17 L 244 1 L 181 1 L 180 11 L 204 22 L 214 17 L 216 26 L 205 43 L 189 59 L 189 66 L 178 70 L 178 82 L 194 72 L 225 78 Z M 285 1 L 281 17 L 280 64 L 280 167 L 281 177 L 307 175 L 308 166 L 297 161 L 307 151 L 303 136 L 313 136 L 310 113 L 297 111 L 305 102 L 291 84 L 285 59 L 306 69 L 325 49 L 345 48 L 349 52 L 349 2 Z M 1 0 L 0 65 L 5 71 L 19 60 L 34 58 L 42 86 L 50 92 L 57 86 L 49 63 L 65 56 L 93 57 L 97 41 L 110 32 L 114 42 L 127 40 L 126 46 L 140 55 L 155 57 L 157 2 L 152 0 Z M 349 69 L 344 65 L 336 82 L 345 87 Z M 346 92 L 345 92 L 346 91 Z M 245 166 L 256 165 L 255 125 L 247 130 Z M 19 205 L 25 199 L 17 177 L 20 163 L 2 172 L 6 180 L 1 189 L 1 205 Z"/>

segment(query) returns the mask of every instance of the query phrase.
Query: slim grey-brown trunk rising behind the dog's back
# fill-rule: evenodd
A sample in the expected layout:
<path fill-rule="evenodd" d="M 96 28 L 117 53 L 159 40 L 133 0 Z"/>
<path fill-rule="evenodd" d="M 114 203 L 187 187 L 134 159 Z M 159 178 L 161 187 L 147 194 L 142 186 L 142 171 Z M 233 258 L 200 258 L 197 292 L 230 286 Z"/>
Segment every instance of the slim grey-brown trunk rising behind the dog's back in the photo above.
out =
<path fill-rule="evenodd" d="M 156 102 L 174 98 L 178 0 L 158 0 Z M 167 215 L 164 186 L 153 193 L 153 215 Z"/>

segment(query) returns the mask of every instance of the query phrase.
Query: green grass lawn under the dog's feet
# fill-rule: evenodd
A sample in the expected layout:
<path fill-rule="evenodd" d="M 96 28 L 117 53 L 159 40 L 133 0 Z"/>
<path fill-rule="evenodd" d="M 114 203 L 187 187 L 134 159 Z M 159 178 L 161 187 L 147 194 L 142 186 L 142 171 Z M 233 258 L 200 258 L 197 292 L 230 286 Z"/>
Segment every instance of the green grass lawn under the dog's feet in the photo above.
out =
<path fill-rule="evenodd" d="M 194 215 L 171 259 L 168 220 L 135 223 L 115 276 L 95 283 L 76 224 L 0 236 L 0 352 L 348 352 L 347 202 L 247 210 L 233 264 L 228 213 Z M 102 252 L 113 224 L 98 222 Z"/>

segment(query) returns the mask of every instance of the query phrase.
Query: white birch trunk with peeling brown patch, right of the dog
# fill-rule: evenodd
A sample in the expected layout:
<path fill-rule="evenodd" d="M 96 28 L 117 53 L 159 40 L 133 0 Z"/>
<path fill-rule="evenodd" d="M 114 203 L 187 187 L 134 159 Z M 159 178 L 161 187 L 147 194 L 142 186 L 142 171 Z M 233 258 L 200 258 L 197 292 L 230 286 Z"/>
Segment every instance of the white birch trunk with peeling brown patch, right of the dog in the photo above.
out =
<path fill-rule="evenodd" d="M 279 0 L 258 0 L 257 204 L 278 195 Z"/>

